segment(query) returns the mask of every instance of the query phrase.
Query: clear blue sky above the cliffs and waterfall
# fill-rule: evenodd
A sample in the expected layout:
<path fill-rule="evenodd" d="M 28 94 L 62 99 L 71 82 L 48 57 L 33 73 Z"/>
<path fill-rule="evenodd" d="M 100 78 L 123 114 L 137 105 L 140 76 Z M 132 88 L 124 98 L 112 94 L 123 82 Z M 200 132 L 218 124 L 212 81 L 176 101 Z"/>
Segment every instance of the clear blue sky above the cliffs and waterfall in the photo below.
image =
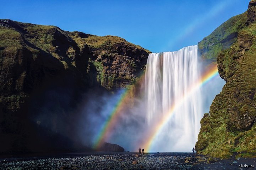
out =
<path fill-rule="evenodd" d="M 2 0 L 0 18 L 99 36 L 116 35 L 152 52 L 196 45 L 250 0 Z"/>

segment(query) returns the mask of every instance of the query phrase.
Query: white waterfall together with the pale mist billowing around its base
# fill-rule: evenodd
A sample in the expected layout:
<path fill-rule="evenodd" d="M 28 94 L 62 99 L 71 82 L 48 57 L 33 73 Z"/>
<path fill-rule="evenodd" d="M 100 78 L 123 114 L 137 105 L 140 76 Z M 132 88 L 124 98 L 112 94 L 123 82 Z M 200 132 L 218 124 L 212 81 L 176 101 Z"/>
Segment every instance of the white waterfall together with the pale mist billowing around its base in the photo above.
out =
<path fill-rule="evenodd" d="M 137 151 L 141 147 L 146 152 L 191 152 L 203 113 L 209 113 L 212 100 L 225 84 L 216 76 L 200 86 L 200 74 L 205 75 L 202 72 L 205 67 L 197 56 L 197 46 L 150 54 L 145 82 L 139 84 L 145 96 L 132 98 L 133 106 L 126 107 L 128 98 L 121 102 L 105 141 L 121 145 L 126 151 Z M 122 94 L 106 99 L 109 105 L 101 112 L 103 117 L 112 116 L 111 109 L 116 108 Z M 93 115 L 92 127 L 100 124 L 98 121 Z"/>

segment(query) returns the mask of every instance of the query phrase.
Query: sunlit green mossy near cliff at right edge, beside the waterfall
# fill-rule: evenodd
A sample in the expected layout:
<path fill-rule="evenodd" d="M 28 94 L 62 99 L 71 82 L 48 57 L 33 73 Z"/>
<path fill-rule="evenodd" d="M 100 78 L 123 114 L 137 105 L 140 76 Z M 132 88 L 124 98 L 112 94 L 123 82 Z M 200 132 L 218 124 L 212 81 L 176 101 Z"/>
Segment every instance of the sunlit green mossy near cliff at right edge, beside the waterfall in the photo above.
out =
<path fill-rule="evenodd" d="M 256 3 L 251 1 L 236 41 L 217 57 L 227 83 L 201 120 L 196 150 L 227 158 L 256 155 Z"/>

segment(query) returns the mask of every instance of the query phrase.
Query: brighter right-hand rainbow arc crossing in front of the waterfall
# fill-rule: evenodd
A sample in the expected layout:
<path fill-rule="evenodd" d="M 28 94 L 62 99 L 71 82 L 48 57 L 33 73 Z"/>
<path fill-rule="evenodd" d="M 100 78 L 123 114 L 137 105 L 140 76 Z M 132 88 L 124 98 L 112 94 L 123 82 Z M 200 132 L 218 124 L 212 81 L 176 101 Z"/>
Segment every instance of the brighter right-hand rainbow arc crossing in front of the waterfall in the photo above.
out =
<path fill-rule="evenodd" d="M 194 83 L 184 96 L 181 96 L 180 99 L 175 101 L 175 104 L 172 105 L 169 111 L 164 114 L 165 116 L 163 116 L 163 118 L 154 127 L 151 128 L 152 130 L 147 135 L 148 138 L 145 139 L 145 142 L 143 143 L 142 146 L 144 146 L 144 148 L 147 148 L 147 150 L 150 151 L 150 148 L 154 140 L 157 138 L 162 128 L 169 122 L 175 110 L 178 109 L 180 106 L 182 106 L 184 101 L 186 101 L 193 94 L 193 92 L 195 92 L 198 88 L 203 86 L 205 83 L 207 83 L 217 75 L 219 75 L 217 65 L 216 64 L 210 65 L 209 69 L 205 72 L 204 75 L 202 75 L 201 79 L 198 80 L 196 83 Z"/>

